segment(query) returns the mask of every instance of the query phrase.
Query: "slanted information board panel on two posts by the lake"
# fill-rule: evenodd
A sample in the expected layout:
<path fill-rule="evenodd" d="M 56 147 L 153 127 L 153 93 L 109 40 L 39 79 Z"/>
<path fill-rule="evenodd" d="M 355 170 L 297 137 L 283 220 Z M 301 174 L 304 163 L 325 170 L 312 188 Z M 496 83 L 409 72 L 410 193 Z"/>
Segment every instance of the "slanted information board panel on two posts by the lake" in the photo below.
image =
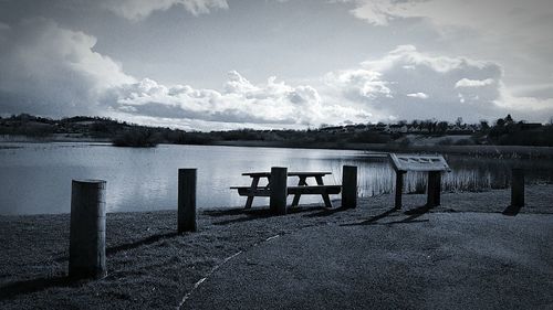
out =
<path fill-rule="evenodd" d="M 442 156 L 389 153 L 396 171 L 451 171 Z"/>

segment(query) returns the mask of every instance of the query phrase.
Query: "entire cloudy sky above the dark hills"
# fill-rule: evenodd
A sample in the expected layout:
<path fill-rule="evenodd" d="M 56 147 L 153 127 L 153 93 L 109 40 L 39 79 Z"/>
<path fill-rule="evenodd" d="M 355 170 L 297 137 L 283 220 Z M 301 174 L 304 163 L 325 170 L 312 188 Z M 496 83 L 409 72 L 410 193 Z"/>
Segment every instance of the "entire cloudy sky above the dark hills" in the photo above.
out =
<path fill-rule="evenodd" d="M 549 122 L 552 55 L 551 0 L 0 0 L 0 115 Z"/>

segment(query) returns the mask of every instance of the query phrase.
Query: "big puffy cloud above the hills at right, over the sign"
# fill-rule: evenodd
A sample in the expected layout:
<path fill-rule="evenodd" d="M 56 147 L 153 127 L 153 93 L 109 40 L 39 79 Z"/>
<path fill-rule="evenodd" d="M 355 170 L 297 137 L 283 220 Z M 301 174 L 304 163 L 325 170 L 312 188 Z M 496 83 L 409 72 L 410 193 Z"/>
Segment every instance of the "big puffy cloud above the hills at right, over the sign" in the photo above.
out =
<path fill-rule="evenodd" d="M 337 93 L 332 95 L 335 100 L 347 99 L 342 105 L 363 108 L 373 120 L 461 116 L 477 121 L 508 113 L 544 120 L 543 115 L 553 114 L 551 100 L 513 96 L 502 77 L 503 68 L 494 62 L 434 55 L 401 45 L 359 67 L 326 74 L 325 84 Z"/>

